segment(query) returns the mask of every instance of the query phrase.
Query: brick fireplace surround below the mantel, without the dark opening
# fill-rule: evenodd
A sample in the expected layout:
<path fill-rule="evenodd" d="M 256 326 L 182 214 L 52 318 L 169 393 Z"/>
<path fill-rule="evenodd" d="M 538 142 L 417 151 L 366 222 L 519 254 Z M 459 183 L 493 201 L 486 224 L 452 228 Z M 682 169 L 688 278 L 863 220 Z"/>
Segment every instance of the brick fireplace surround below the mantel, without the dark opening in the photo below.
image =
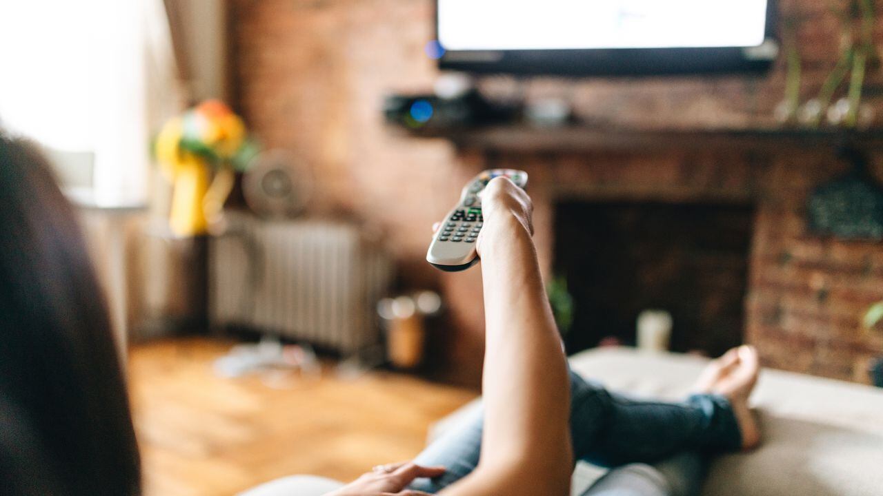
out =
<path fill-rule="evenodd" d="M 531 174 L 543 254 L 552 252 L 555 199 L 748 200 L 756 219 L 745 338 L 765 364 L 866 382 L 868 362 L 883 354 L 883 333 L 860 323 L 883 299 L 883 246 L 817 237 L 806 227 L 811 190 L 845 170 L 833 151 L 511 155 L 493 165 Z"/>

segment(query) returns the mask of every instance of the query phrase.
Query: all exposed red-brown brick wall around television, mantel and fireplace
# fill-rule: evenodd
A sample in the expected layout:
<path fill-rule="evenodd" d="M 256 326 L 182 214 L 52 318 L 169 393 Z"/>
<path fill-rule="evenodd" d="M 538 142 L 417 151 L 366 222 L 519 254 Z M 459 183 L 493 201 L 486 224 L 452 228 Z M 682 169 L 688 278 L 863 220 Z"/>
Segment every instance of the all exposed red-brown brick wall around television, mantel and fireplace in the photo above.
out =
<path fill-rule="evenodd" d="M 824 0 L 781 0 L 800 23 L 804 98 L 836 58 L 837 19 Z M 475 378 L 482 349 L 479 271 L 440 274 L 423 260 L 429 226 L 462 184 L 487 165 L 532 174 L 536 222 L 551 226 L 561 195 L 739 194 L 758 202 L 746 336 L 766 364 L 866 380 L 883 334 L 858 324 L 883 298 L 883 250 L 806 233 L 807 192 L 842 166 L 827 154 L 557 154 L 487 157 L 442 140 L 406 139 L 382 124 L 390 91 L 425 90 L 437 71 L 423 55 L 433 33 L 431 0 L 230 0 L 234 103 L 260 139 L 300 154 L 316 177 L 313 214 L 355 216 L 386 233 L 403 287 L 442 290 L 449 304 L 444 353 L 460 378 Z M 881 16 L 883 17 L 883 16 Z M 880 23 L 883 34 L 883 22 Z M 873 71 L 866 94 L 883 79 Z M 771 124 L 784 71 L 763 77 L 485 79 L 489 94 L 563 96 L 577 115 L 602 124 L 738 127 Z M 883 117 L 883 111 L 878 115 Z M 883 120 L 878 117 L 878 120 Z M 564 187 L 562 184 L 568 184 Z M 660 186 L 663 185 L 663 186 Z M 655 192 L 654 192 L 655 191 Z M 537 242 L 549 267 L 551 233 Z"/>

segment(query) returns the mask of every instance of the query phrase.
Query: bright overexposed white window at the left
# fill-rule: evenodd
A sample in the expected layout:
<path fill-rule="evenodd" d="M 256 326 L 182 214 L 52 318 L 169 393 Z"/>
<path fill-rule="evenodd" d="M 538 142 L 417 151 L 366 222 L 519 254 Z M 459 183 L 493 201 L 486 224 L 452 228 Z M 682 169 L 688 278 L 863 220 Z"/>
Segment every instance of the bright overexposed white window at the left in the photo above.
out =
<path fill-rule="evenodd" d="M 152 1 L 0 3 L 0 125 L 44 147 L 79 202 L 147 200 Z"/>

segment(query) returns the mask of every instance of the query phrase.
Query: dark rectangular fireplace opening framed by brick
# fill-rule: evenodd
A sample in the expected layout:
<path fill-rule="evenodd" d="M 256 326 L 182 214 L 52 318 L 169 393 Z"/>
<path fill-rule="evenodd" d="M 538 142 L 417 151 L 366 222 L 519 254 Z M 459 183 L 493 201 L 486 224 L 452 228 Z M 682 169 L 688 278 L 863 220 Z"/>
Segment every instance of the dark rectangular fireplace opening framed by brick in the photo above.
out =
<path fill-rule="evenodd" d="M 636 343 L 638 315 L 671 316 L 669 349 L 718 356 L 743 342 L 754 209 L 741 204 L 562 202 L 555 274 L 573 316 L 568 353 Z"/>

